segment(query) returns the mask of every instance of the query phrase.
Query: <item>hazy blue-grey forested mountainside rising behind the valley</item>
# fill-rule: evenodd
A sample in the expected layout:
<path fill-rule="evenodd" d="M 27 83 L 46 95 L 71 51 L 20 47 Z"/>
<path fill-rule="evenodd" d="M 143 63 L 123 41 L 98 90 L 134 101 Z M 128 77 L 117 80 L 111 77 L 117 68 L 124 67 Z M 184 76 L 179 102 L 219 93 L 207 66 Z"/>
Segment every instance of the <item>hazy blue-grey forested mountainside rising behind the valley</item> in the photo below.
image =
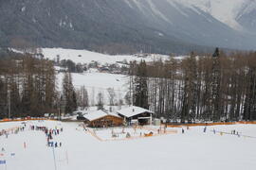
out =
<path fill-rule="evenodd" d="M 24 39 L 44 47 L 110 53 L 256 48 L 253 26 L 252 33 L 236 30 L 195 6 L 202 0 L 192 1 L 193 5 L 186 4 L 188 0 L 2 0 L 0 45 Z M 249 25 L 253 12 L 238 22 Z"/>

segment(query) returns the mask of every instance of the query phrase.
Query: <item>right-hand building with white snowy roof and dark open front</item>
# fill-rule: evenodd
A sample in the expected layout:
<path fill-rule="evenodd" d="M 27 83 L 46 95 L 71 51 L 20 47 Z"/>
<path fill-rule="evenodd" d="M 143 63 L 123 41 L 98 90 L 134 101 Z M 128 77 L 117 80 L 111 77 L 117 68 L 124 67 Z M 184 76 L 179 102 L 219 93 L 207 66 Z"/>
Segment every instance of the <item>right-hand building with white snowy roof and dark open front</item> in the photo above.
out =
<path fill-rule="evenodd" d="M 151 110 L 145 110 L 136 106 L 118 110 L 117 112 L 128 125 L 136 122 L 138 125 L 151 125 L 152 116 L 154 114 Z"/>

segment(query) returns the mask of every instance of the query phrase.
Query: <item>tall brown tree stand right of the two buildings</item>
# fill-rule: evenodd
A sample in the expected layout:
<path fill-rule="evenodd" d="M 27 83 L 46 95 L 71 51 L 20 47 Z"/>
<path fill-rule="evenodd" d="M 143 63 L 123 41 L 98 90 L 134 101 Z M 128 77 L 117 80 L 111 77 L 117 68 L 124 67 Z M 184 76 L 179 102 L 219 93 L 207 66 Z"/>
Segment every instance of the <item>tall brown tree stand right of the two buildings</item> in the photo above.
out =
<path fill-rule="evenodd" d="M 130 99 L 174 122 L 256 119 L 256 53 L 133 62 Z"/>

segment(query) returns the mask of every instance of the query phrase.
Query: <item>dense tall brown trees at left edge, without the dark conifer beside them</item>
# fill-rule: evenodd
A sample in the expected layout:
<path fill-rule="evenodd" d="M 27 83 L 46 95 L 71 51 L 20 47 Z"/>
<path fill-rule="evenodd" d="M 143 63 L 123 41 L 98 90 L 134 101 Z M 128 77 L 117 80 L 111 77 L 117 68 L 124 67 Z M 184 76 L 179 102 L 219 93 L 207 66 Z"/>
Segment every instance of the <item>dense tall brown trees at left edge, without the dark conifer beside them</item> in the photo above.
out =
<path fill-rule="evenodd" d="M 31 54 L 13 55 L 0 62 L 0 116 L 42 116 L 56 110 L 52 61 Z"/>

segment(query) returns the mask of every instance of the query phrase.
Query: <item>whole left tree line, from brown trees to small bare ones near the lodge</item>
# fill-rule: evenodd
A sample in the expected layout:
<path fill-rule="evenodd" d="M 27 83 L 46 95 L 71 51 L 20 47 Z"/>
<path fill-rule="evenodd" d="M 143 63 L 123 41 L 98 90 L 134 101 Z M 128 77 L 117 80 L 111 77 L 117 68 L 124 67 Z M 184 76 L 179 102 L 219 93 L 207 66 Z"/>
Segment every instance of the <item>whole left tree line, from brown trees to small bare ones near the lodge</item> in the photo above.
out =
<path fill-rule="evenodd" d="M 96 103 L 90 104 L 85 86 L 75 88 L 70 72 L 64 73 L 60 89 L 57 80 L 54 61 L 30 53 L 4 54 L 0 59 L 0 118 L 42 117 L 45 113 L 59 116 L 90 105 L 105 109 L 103 93 L 99 92 Z M 113 110 L 117 105 L 115 90 L 107 89 L 106 97 L 109 110 Z"/>

